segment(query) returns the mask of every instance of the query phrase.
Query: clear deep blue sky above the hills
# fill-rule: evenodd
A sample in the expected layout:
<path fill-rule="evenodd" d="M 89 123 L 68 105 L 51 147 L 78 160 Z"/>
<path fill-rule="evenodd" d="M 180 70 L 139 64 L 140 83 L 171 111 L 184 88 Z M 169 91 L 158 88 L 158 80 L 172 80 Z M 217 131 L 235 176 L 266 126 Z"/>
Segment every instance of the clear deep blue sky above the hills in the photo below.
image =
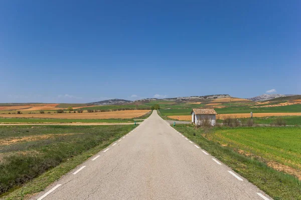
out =
<path fill-rule="evenodd" d="M 299 0 L 0 1 L 0 102 L 301 93 Z"/>

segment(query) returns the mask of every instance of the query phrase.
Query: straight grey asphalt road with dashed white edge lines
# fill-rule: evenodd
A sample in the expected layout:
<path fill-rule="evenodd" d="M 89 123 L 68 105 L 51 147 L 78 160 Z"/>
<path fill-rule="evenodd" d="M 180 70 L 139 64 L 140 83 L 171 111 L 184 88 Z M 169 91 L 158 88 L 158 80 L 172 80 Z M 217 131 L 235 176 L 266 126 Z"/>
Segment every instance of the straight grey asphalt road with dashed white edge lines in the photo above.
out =
<path fill-rule="evenodd" d="M 120 139 L 33 199 L 271 199 L 156 111 Z"/>

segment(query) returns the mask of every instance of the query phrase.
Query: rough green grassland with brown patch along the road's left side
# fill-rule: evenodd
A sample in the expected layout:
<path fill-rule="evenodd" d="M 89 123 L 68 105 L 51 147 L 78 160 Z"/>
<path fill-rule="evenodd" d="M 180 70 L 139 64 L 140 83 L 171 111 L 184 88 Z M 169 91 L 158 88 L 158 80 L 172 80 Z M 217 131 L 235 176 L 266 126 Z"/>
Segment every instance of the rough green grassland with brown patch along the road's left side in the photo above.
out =
<path fill-rule="evenodd" d="M 3 199 L 23 199 L 43 190 L 129 132 L 133 125 L 31 127 L 0 129 L 0 189 L 6 192 Z"/>

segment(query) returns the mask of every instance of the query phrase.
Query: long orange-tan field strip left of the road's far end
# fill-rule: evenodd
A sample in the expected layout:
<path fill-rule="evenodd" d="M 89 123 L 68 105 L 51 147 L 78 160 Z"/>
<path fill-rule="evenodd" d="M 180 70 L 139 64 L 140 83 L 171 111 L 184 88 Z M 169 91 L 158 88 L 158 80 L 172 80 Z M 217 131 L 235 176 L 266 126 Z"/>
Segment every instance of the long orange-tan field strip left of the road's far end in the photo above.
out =
<path fill-rule="evenodd" d="M 105 119 L 105 118 L 133 118 L 139 117 L 150 110 L 122 110 L 111 112 L 84 113 L 45 113 L 45 114 L 0 114 L 0 117 L 10 118 L 67 118 L 67 119 Z"/>

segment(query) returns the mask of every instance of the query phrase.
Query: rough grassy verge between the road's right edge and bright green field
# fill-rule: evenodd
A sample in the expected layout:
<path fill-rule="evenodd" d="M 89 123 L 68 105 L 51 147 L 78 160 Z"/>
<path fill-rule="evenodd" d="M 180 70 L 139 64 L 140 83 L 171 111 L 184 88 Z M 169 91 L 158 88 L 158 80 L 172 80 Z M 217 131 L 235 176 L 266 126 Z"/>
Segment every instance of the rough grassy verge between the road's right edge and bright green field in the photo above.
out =
<path fill-rule="evenodd" d="M 231 147 L 221 146 L 218 142 L 207 139 L 203 136 L 202 128 L 196 129 L 194 125 L 179 124 L 176 129 L 275 200 L 301 199 L 301 182 L 296 177 L 268 167 L 256 157 L 247 157 L 235 152 Z"/>

